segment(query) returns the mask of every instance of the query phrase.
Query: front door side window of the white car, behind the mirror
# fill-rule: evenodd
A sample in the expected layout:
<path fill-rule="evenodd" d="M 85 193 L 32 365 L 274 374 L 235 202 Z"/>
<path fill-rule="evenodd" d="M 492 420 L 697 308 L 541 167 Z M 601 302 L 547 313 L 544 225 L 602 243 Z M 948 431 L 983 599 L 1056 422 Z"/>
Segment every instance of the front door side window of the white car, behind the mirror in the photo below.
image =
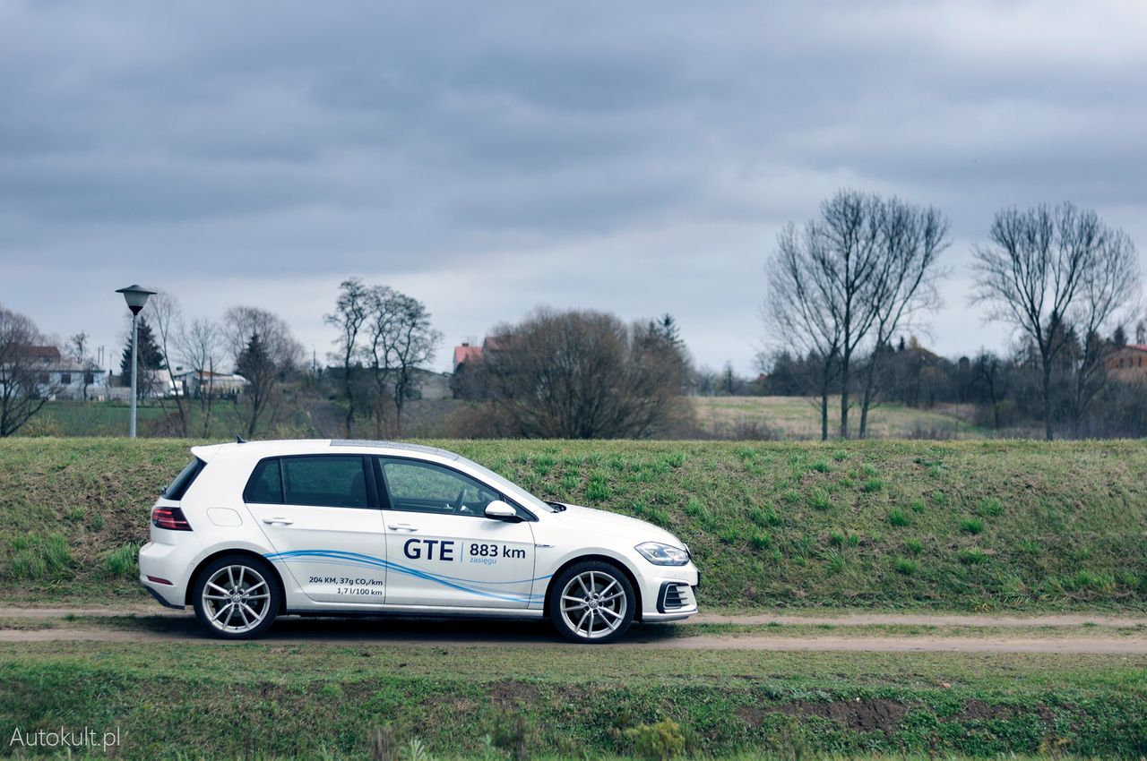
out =
<path fill-rule="evenodd" d="M 413 460 L 380 461 L 393 510 L 482 516 L 501 495 L 448 468 Z"/>

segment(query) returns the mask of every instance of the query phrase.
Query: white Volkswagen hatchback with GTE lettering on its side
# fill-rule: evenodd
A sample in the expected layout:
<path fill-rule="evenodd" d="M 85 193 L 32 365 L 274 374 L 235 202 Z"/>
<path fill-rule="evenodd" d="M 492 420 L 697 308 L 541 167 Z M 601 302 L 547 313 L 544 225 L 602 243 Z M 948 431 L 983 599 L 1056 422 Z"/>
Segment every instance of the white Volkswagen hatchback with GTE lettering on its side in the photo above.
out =
<path fill-rule="evenodd" d="M 545 502 L 451 452 L 379 441 L 193 447 L 151 510 L 140 582 L 248 638 L 276 615 L 549 617 L 604 643 L 696 613 L 689 548 L 643 520 Z"/>

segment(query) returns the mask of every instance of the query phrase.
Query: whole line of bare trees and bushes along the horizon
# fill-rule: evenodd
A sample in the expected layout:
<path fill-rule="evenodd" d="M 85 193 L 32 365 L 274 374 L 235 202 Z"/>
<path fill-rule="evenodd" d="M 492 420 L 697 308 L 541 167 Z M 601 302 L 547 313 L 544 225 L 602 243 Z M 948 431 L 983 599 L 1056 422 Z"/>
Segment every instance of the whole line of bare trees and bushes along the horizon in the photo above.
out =
<path fill-rule="evenodd" d="M 1014 328 L 1019 342 L 1011 352 L 951 361 L 905 340 L 941 304 L 950 228 L 934 206 L 858 190 L 841 190 L 814 218 L 787 225 L 766 264 L 762 317 L 774 348 L 758 356 L 765 375 L 752 383 L 731 366 L 696 370 L 671 315 L 626 323 L 603 312 L 539 307 L 491 328 L 484 351 L 458 368 L 451 389 L 468 403 L 451 432 L 677 436 L 696 431 L 688 394 L 773 393 L 816 399 L 822 439 L 868 436 L 869 414 L 882 401 L 973 403 L 986 410 L 985 425 L 1016 430 L 1038 419 L 1048 439 L 1056 431 L 1147 433 L 1147 423 L 1134 427 L 1147 418 L 1141 392 L 1107 371 L 1139 306 L 1130 237 L 1069 203 L 999 211 L 973 249 L 972 303 Z M 157 293 L 140 317 L 140 394 L 171 408 L 167 432 L 179 436 L 210 437 L 220 400 L 248 437 L 274 429 L 304 400 L 326 400 L 348 437 L 400 437 L 443 338 L 426 305 L 351 277 L 323 321 L 335 335 L 329 364 L 309 372 L 279 315 L 235 306 L 219 320 L 187 317 L 173 295 Z M 49 342 L 29 317 L 0 307 L 0 436 L 52 394 L 28 352 Z M 86 334 L 72 336 L 65 351 L 91 364 Z M 130 358 L 128 346 L 123 377 Z M 195 389 L 161 389 L 159 371 L 180 367 L 197 374 Z M 218 393 L 212 384 L 221 370 L 242 376 L 242 390 Z M 1105 425 L 1113 416 L 1128 425 Z"/>

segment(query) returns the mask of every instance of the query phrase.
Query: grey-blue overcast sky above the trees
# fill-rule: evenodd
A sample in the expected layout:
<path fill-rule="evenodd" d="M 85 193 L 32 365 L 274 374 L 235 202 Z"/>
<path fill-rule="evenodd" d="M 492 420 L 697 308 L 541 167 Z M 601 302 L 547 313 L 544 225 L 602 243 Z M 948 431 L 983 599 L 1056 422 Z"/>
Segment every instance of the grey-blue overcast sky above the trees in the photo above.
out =
<path fill-rule="evenodd" d="M 868 6 L 865 9 L 863 6 Z M 0 304 L 123 345 L 142 283 L 282 314 L 340 281 L 451 347 L 539 304 L 764 339 L 778 229 L 837 188 L 952 221 L 949 355 L 992 213 L 1071 199 L 1147 251 L 1147 3 L 0 0 Z"/>

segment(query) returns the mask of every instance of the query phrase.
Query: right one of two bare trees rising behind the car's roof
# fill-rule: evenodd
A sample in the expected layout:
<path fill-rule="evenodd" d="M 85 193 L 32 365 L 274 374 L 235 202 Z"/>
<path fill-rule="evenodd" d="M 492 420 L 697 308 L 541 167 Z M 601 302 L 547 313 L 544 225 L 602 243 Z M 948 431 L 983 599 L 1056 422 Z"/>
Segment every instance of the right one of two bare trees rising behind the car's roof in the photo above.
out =
<path fill-rule="evenodd" d="M 388 285 L 375 285 L 366 295 L 366 356 L 375 386 L 380 429 L 385 409 L 395 409 L 395 433 L 401 436 L 403 408 L 414 393 L 416 369 L 434 359 L 442 334 L 430 327 L 430 313 L 415 298 Z"/>

